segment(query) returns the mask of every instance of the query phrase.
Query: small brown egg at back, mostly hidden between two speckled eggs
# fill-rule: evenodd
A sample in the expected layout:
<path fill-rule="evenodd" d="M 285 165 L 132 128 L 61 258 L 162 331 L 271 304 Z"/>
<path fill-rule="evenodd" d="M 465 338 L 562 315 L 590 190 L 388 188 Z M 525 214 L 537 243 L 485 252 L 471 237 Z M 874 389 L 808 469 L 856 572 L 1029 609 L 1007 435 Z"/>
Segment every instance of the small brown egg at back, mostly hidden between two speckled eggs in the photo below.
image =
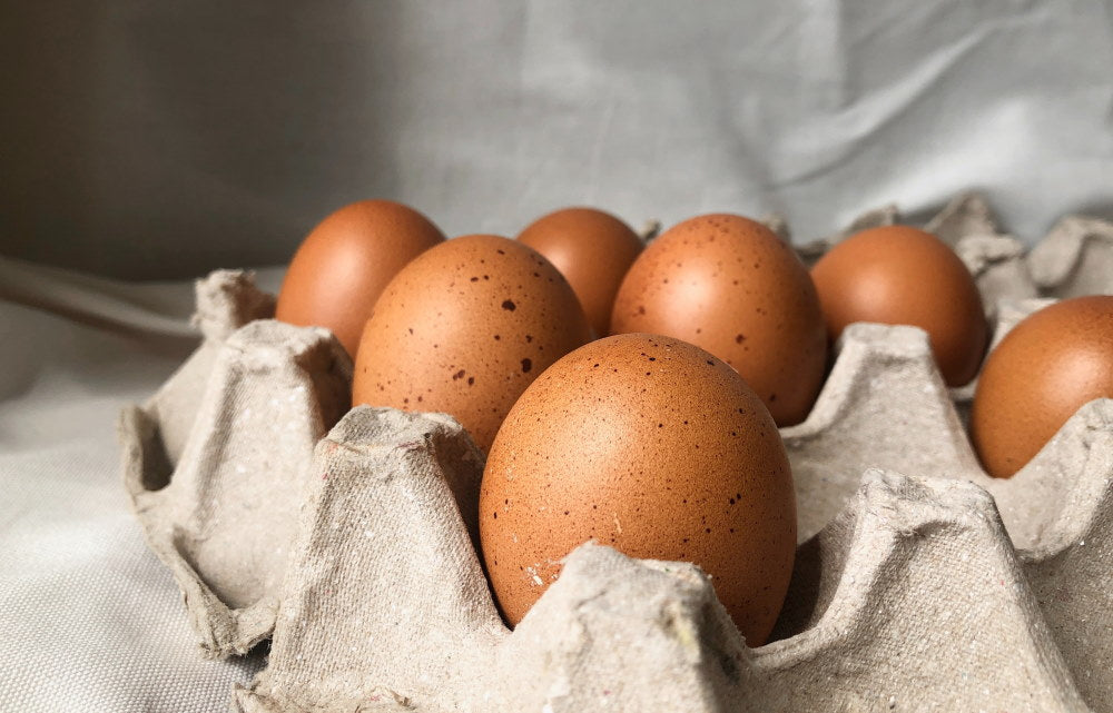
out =
<path fill-rule="evenodd" d="M 610 334 L 614 295 L 644 244 L 630 226 L 594 208 L 564 208 L 518 236 L 568 278 L 595 334 Z"/>

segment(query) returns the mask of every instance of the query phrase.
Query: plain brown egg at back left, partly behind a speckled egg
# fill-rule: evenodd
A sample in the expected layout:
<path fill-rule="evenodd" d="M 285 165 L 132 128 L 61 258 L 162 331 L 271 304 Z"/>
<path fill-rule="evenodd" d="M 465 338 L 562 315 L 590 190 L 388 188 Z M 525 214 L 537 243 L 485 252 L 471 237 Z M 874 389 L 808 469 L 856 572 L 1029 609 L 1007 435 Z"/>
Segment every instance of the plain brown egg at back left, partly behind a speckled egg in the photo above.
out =
<path fill-rule="evenodd" d="M 378 295 L 398 270 L 444 242 L 429 218 L 390 200 L 361 200 L 325 218 L 286 271 L 275 318 L 332 330 L 355 356 Z"/>

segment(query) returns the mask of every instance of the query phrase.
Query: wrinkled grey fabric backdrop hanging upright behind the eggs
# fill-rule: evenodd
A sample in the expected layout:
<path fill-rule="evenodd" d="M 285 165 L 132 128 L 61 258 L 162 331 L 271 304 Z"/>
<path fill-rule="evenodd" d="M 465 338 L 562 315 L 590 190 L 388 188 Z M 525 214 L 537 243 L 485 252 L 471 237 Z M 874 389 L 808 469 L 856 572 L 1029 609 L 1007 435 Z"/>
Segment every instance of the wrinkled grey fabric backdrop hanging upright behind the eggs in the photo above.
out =
<path fill-rule="evenodd" d="M 391 197 L 450 235 L 567 204 L 800 240 L 987 189 L 1113 216 L 1110 2 L 238 1 L 0 8 L 0 254 L 129 278 L 285 263 Z"/>

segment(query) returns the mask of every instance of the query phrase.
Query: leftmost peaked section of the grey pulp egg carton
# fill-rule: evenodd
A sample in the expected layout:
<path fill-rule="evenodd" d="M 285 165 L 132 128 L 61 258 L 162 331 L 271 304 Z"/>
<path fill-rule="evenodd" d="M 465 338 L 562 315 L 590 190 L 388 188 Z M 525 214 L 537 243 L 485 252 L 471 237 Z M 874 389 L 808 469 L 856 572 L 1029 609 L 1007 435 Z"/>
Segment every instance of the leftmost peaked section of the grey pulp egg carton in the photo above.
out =
<path fill-rule="evenodd" d="M 348 407 L 336 339 L 273 311 L 249 275 L 199 280 L 200 347 L 119 420 L 132 511 L 208 656 L 269 636 L 313 448 Z"/>

